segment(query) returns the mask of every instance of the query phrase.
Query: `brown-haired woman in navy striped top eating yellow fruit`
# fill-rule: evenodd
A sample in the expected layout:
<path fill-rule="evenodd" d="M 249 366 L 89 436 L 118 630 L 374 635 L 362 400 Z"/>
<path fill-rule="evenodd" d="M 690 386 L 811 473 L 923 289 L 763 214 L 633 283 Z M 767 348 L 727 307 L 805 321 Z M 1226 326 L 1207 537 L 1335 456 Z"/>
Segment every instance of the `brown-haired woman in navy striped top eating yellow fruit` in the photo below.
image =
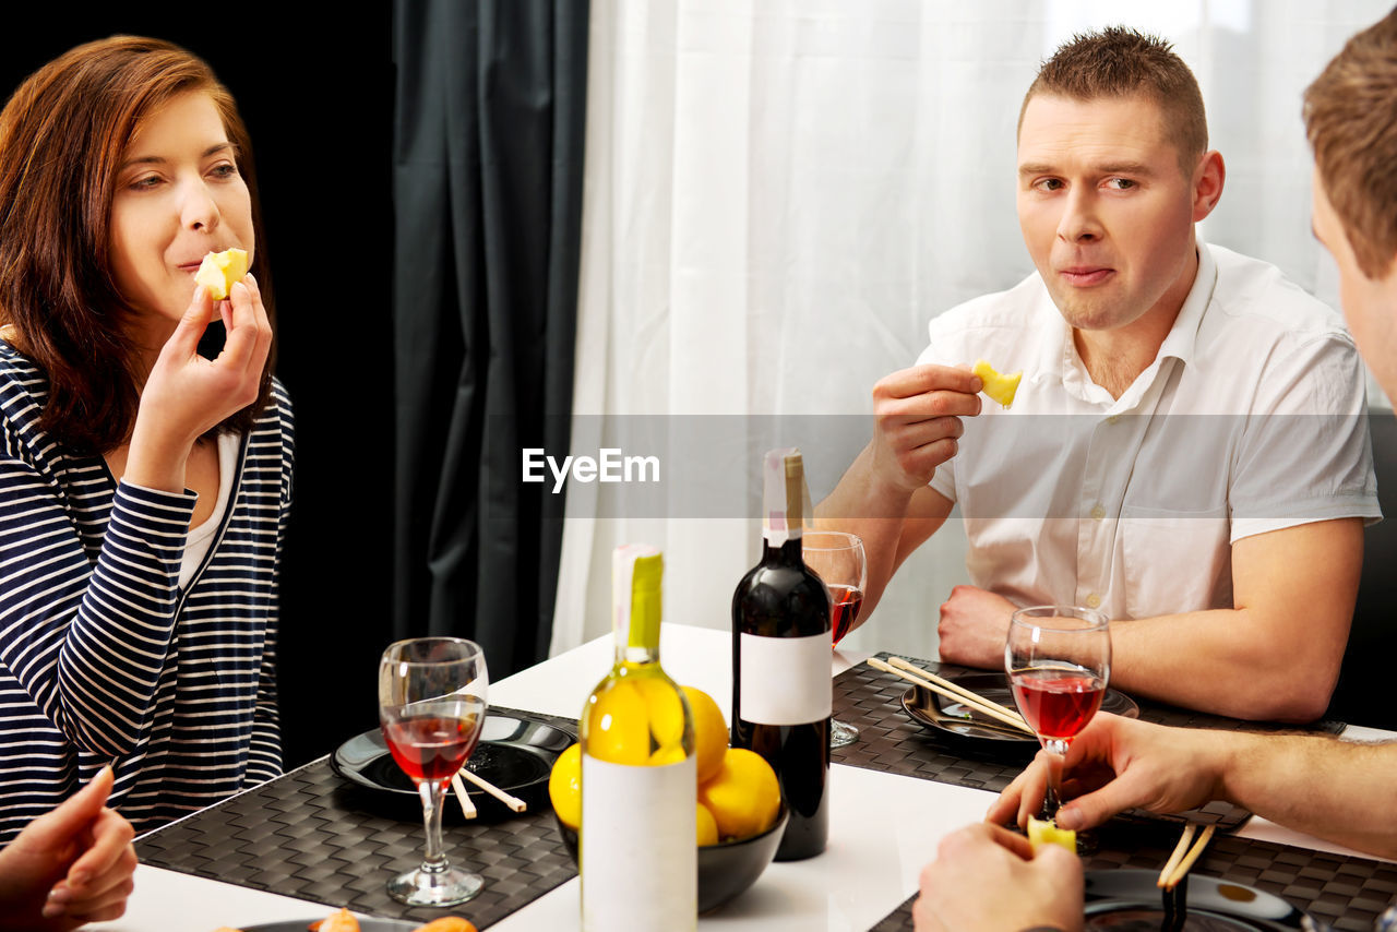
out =
<path fill-rule="evenodd" d="M 0 844 L 108 764 L 137 830 L 281 771 L 260 232 L 247 131 L 177 46 L 78 46 L 0 113 Z M 215 302 L 229 247 L 251 274 Z"/>

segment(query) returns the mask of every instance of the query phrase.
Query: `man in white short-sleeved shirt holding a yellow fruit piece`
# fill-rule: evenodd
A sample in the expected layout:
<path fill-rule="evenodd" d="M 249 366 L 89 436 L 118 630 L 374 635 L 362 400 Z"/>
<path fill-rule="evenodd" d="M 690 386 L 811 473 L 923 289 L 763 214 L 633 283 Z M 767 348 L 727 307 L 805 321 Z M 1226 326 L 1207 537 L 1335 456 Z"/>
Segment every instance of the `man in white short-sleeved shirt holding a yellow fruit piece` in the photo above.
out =
<path fill-rule="evenodd" d="M 932 321 L 820 506 L 865 539 L 865 618 L 960 503 L 974 584 L 942 605 L 943 660 L 999 668 L 1014 608 L 1084 604 L 1126 692 L 1323 714 L 1379 514 L 1362 367 L 1337 314 L 1197 240 L 1224 176 L 1166 43 L 1106 29 L 1044 64 L 1018 129 L 1038 272 Z M 1010 411 L 972 419 L 977 358 L 1024 369 Z"/>

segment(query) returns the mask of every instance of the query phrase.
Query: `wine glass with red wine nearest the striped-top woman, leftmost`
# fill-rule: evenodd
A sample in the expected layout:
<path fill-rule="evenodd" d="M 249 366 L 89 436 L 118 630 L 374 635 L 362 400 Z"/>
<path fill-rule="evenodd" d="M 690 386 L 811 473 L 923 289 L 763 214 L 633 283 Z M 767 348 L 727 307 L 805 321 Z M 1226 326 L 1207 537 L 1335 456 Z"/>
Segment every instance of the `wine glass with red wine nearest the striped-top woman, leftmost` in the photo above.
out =
<path fill-rule="evenodd" d="M 388 750 L 422 796 L 427 850 L 422 865 L 388 880 L 388 896 L 409 905 L 465 903 L 481 875 L 451 866 L 441 848 L 441 803 L 485 725 L 485 653 L 460 637 L 415 637 L 391 644 L 379 661 L 379 722 Z"/>

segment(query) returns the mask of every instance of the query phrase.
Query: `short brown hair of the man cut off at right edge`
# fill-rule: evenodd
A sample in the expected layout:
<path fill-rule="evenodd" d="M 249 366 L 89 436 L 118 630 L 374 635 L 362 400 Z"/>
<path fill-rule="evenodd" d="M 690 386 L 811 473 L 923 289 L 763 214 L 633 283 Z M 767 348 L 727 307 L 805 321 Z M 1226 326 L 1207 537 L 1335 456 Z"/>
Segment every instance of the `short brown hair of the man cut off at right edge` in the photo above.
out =
<path fill-rule="evenodd" d="M 1384 278 L 1397 256 L 1397 10 L 1309 85 L 1305 133 L 1358 267 Z"/>

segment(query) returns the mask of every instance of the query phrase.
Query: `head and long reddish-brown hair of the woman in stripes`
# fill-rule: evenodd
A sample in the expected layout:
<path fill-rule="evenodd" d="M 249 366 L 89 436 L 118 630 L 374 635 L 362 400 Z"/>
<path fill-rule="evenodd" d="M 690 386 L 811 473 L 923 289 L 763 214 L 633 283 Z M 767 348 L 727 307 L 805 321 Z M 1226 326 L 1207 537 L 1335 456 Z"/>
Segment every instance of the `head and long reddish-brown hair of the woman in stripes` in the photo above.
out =
<path fill-rule="evenodd" d="M 246 249 L 275 320 L 264 243 L 247 127 L 208 64 L 176 45 L 80 45 L 0 113 L 0 337 L 47 376 L 39 423 L 68 449 L 130 439 L 205 252 Z M 251 426 L 274 356 L 275 345 L 257 401 L 211 433 Z"/>

